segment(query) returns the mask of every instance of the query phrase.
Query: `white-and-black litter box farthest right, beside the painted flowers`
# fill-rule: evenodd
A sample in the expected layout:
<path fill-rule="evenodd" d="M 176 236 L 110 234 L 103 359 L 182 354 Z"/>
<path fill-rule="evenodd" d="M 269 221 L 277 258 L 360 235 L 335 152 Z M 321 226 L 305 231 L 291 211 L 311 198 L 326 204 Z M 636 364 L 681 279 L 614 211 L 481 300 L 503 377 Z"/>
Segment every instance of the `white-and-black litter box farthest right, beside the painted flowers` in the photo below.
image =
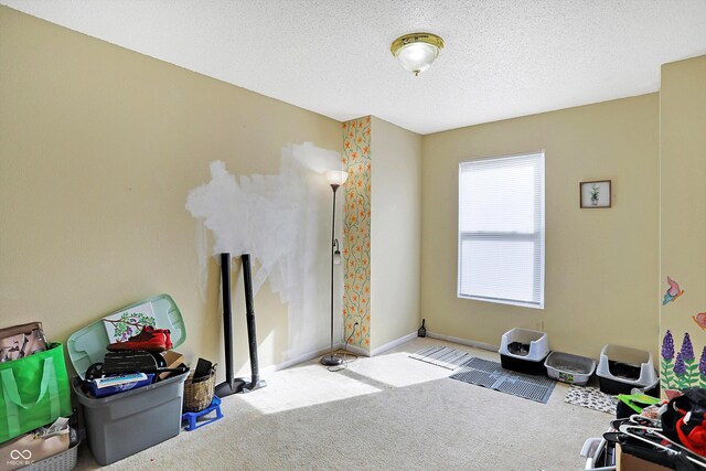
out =
<path fill-rule="evenodd" d="M 606 394 L 630 394 L 633 387 L 652 388 L 657 383 L 652 354 L 629 346 L 603 346 L 596 375 Z"/>

